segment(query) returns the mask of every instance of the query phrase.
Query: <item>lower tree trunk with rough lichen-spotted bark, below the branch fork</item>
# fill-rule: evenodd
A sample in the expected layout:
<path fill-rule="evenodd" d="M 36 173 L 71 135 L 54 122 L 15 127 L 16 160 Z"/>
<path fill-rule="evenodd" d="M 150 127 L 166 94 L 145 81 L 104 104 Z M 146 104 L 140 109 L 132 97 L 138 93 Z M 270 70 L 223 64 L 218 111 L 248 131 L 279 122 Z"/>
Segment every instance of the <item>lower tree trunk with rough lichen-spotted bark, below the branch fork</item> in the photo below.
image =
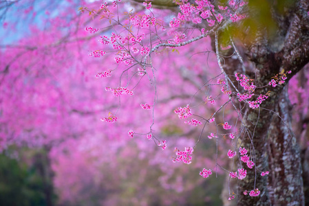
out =
<path fill-rule="evenodd" d="M 242 145 L 253 149 L 256 167 L 270 174 L 257 172 L 255 179 L 254 168 L 248 169 L 246 178 L 238 183 L 237 205 L 304 205 L 301 158 L 290 131 L 290 101 L 287 89 L 279 92 L 267 102 L 269 110 L 247 112 L 246 128 L 254 135 L 244 138 Z M 244 196 L 244 190 L 254 188 L 260 190 L 259 196 Z"/>

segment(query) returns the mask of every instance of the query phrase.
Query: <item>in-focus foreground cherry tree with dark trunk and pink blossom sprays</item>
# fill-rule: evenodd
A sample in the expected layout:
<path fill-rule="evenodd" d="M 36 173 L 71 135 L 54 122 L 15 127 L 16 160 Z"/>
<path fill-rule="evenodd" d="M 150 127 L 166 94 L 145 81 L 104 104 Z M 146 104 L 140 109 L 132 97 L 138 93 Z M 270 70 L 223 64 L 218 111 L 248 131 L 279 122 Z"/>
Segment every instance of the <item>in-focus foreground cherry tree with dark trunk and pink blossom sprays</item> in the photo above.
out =
<path fill-rule="evenodd" d="M 146 76 L 154 88 L 155 99 L 151 105 L 155 113 L 158 95 L 156 75 L 160 67 L 155 63 L 155 52 L 162 48 L 173 48 L 174 52 L 176 48 L 201 43 L 204 38 L 211 36 L 221 71 L 216 84 L 221 86 L 221 94 L 226 95 L 228 100 L 210 117 L 193 113 L 190 106 L 192 102 L 178 107 L 175 113 L 179 119 L 190 119 L 192 115 L 198 117 L 184 122 L 192 126 L 203 124 L 205 128 L 215 122 L 217 134 L 211 133 L 209 139 L 219 139 L 224 135 L 236 139 L 231 144 L 233 150 L 227 152 L 228 157 L 234 159 L 232 169 L 223 169 L 229 173 L 230 179 L 239 179 L 237 205 L 303 205 L 301 155 L 290 129 L 290 101 L 284 84 L 308 62 L 308 3 L 175 1 L 174 4 L 179 7 L 178 15 L 176 12 L 167 25 L 164 19 L 160 19 L 162 12 L 152 8 L 154 5 L 162 6 L 162 1 L 144 2 L 146 12 L 127 10 L 124 15 L 127 18 L 123 21 L 119 20 L 119 2 L 114 1 L 111 5 L 103 3 L 96 10 L 80 8 L 81 12 L 87 11 L 89 15 L 109 20 L 113 26 L 114 32 L 110 36 L 100 36 L 100 41 L 107 47 L 111 45 L 116 51 L 115 61 L 121 66 L 99 73 L 100 77 L 111 76 L 111 71 L 122 68 L 122 75 L 128 76 L 129 71 L 140 67 L 133 75 L 129 75 L 125 87 L 121 87 L 120 82 L 120 87 L 107 87 L 106 91 L 111 91 L 116 97 L 134 95 L 134 91 L 128 89 L 132 84 L 134 88 L 138 87 L 139 82 L 131 82 L 134 75 Z M 116 18 L 114 14 L 117 14 Z M 90 33 L 98 31 L 92 27 L 86 30 Z M 195 47 L 200 48 L 201 45 Z M 105 54 L 105 51 L 102 52 Z M 204 82 L 198 91 L 210 87 L 211 83 Z M 206 95 L 201 102 L 212 104 L 217 98 Z M 231 107 L 228 108 L 228 105 Z M 141 106 L 151 109 L 149 104 Z M 233 109 L 237 114 L 235 129 L 230 133 L 218 133 L 219 126 L 223 126 L 224 130 L 232 128 L 225 120 L 215 121 L 222 108 Z M 167 141 L 153 136 L 154 119 L 153 115 L 147 138 L 152 138 L 164 150 Z M 109 123 L 116 120 L 117 117 L 111 114 L 103 119 Z M 197 143 L 204 137 L 204 128 Z M 134 137 L 134 134 L 133 130 L 129 130 L 130 137 Z M 191 163 L 192 147 L 175 150 L 175 162 Z M 239 161 L 235 158 L 237 153 Z M 218 167 L 221 165 L 216 161 L 215 171 Z M 200 175 L 207 178 L 212 173 L 212 170 L 204 168 Z M 235 198 L 230 186 L 228 195 L 228 200 Z"/>

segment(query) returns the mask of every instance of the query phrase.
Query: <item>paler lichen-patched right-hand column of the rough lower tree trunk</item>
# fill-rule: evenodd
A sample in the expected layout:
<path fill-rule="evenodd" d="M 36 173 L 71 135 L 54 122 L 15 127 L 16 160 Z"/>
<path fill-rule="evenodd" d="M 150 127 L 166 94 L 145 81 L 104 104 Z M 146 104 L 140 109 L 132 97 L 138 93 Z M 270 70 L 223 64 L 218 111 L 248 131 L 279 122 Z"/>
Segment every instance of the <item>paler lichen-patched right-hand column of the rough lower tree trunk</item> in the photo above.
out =
<path fill-rule="evenodd" d="M 281 91 L 268 128 L 268 191 L 272 205 L 303 205 L 303 179 L 297 141 L 290 136 L 290 101 Z"/>

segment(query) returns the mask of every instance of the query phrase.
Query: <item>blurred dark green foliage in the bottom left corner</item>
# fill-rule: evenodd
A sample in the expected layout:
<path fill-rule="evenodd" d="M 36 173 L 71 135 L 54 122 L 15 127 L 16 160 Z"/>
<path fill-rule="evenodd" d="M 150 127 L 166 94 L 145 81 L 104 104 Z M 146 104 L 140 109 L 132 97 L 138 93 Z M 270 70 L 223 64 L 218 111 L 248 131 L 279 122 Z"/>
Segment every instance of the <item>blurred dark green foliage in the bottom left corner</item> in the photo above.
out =
<path fill-rule="evenodd" d="M 36 159 L 30 165 L 17 158 L 16 151 L 7 150 L 6 155 L 0 155 L 0 205 L 50 205 L 46 201 L 46 178 L 39 172 L 39 161 L 34 158 L 38 154 L 45 155 L 45 151 L 28 150 L 26 153 L 25 157 L 30 155 L 32 160 Z"/>

